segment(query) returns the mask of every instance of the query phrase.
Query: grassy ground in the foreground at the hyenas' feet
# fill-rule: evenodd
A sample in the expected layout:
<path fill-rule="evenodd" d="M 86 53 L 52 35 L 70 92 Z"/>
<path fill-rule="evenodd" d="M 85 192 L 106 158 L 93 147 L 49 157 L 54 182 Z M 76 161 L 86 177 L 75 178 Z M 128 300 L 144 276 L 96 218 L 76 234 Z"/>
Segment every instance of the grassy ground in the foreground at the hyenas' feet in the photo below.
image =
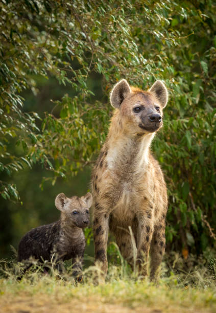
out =
<path fill-rule="evenodd" d="M 214 277 L 205 269 L 190 274 L 162 273 L 159 286 L 133 277 L 123 264 L 112 266 L 106 283 L 95 286 L 92 267 L 82 283 L 38 271 L 16 280 L 17 269 L 2 267 L 1 312 L 216 312 Z"/>

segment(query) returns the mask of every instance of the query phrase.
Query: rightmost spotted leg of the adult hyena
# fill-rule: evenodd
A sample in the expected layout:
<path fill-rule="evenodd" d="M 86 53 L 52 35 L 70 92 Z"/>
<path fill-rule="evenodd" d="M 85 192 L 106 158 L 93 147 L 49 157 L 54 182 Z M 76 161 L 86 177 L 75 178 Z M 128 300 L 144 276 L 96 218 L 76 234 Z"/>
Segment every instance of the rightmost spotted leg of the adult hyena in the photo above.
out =
<path fill-rule="evenodd" d="M 165 221 L 159 222 L 154 227 L 154 234 L 152 237 L 150 255 L 151 255 L 151 281 L 157 282 L 159 278 L 160 264 L 165 252 Z"/>

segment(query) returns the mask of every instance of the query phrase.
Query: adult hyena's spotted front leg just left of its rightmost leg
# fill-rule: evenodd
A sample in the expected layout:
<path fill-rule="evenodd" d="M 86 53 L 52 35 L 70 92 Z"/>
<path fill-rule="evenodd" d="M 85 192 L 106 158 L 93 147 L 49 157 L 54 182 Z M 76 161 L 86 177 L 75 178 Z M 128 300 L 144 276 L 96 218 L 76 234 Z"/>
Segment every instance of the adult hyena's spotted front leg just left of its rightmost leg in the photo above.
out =
<path fill-rule="evenodd" d="M 151 213 L 138 217 L 137 232 L 137 262 L 139 274 L 147 275 L 149 250 L 153 235 L 153 222 Z"/>

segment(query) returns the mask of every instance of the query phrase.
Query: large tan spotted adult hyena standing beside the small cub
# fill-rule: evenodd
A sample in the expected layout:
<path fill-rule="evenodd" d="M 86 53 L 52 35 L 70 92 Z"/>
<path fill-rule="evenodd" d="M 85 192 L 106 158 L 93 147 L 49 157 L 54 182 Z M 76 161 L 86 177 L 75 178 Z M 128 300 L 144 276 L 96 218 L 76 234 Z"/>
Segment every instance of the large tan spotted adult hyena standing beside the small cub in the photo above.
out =
<path fill-rule="evenodd" d="M 107 272 L 107 238 L 110 230 L 122 255 L 139 273 L 147 275 L 151 253 L 151 279 L 156 280 L 165 250 L 166 185 L 150 151 L 162 127 L 167 90 L 156 81 L 149 91 L 123 79 L 110 95 L 116 108 L 107 140 L 92 172 L 95 261 Z M 130 228 L 136 247 L 132 244 Z"/>

